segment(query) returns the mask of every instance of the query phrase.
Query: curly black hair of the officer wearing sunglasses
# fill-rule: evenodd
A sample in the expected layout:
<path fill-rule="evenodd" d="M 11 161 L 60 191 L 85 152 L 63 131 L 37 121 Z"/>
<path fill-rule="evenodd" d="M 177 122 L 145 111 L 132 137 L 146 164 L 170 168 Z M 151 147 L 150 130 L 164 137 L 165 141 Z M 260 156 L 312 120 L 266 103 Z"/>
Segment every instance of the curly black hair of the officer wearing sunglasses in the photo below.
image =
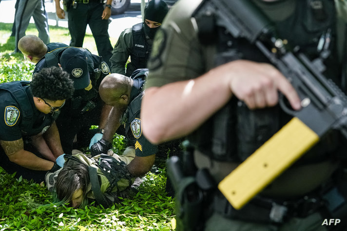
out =
<path fill-rule="evenodd" d="M 30 88 L 33 96 L 51 101 L 71 98 L 74 94 L 73 81 L 60 67 L 42 68 L 34 74 Z"/>

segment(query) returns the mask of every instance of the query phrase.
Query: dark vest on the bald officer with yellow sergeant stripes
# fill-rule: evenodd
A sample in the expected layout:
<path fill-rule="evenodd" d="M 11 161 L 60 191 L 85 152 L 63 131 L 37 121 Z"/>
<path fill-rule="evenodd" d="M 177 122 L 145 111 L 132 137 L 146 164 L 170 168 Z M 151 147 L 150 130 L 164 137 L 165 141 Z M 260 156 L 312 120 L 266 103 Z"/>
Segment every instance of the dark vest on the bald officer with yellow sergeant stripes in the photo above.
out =
<path fill-rule="evenodd" d="M 142 86 L 140 93 L 138 96 L 136 96 L 128 105 L 127 110 L 124 112 L 124 114 L 121 117 L 121 124 L 124 125 L 125 133 L 128 134 L 131 122 L 135 119 L 136 116 L 139 115 L 139 112 L 141 110 L 141 102 L 143 97 L 143 89 L 144 84 L 148 76 L 148 69 L 137 69 L 135 72 L 133 72 L 133 75 L 131 78 L 133 79 L 142 79 Z M 131 137 L 131 135 L 128 135 L 128 137 Z"/>

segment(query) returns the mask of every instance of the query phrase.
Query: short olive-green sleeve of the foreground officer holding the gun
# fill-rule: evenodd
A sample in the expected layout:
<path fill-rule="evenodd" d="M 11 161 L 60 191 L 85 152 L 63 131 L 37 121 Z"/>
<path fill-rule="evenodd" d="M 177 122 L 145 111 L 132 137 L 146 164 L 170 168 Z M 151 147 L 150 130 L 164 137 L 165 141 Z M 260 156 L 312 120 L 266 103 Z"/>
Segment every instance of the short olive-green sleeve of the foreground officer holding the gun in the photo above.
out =
<path fill-rule="evenodd" d="M 191 15 L 201 0 L 181 0 L 166 15 L 152 47 L 146 88 L 198 77 L 204 72 L 202 47 Z"/>

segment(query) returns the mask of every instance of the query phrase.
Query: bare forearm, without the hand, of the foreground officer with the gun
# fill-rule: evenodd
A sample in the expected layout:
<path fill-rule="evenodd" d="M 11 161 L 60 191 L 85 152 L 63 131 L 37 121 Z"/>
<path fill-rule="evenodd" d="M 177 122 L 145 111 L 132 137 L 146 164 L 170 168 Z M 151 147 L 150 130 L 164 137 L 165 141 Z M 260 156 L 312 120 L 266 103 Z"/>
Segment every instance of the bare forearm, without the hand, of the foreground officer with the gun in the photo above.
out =
<path fill-rule="evenodd" d="M 141 107 L 144 135 L 161 143 L 191 133 L 230 99 L 223 78 L 210 71 L 192 80 L 146 89 Z"/>

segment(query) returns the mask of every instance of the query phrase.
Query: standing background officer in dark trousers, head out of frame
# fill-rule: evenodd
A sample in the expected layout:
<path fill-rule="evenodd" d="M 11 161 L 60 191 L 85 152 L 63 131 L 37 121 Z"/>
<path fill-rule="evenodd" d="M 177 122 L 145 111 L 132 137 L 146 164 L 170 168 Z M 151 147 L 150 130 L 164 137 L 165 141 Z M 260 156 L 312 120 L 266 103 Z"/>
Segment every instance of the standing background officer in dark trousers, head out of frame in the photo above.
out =
<path fill-rule="evenodd" d="M 65 19 L 65 11 L 60 0 L 55 0 L 59 19 Z M 104 8 L 100 0 L 64 0 L 64 9 L 68 13 L 68 26 L 71 35 L 70 46 L 83 47 L 83 39 L 89 25 L 96 43 L 98 55 L 109 64 L 112 45 L 108 34 L 108 19 L 111 16 L 112 0 L 107 0 Z"/>

